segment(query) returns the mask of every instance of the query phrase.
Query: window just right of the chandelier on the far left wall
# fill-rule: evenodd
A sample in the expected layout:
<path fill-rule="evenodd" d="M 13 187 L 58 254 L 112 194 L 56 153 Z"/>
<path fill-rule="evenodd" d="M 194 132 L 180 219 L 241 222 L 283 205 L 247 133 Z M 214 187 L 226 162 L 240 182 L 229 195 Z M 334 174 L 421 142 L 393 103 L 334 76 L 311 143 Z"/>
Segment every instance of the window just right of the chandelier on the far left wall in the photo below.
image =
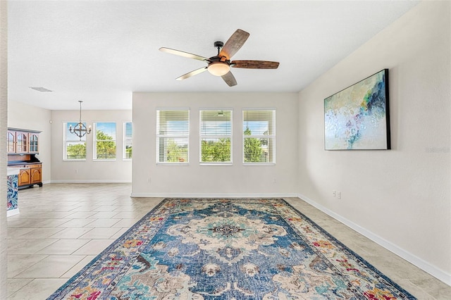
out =
<path fill-rule="evenodd" d="M 94 123 L 94 160 L 116 159 L 116 123 Z"/>

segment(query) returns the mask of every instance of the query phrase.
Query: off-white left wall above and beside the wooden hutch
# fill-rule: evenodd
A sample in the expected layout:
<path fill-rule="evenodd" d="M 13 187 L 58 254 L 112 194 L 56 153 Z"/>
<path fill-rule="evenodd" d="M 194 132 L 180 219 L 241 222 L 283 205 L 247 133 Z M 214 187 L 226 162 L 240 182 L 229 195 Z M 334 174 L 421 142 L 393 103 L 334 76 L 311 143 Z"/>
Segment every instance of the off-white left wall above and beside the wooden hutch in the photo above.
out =
<path fill-rule="evenodd" d="M 51 111 L 18 101 L 8 101 L 8 127 L 39 130 L 39 154 L 42 162 L 42 182 L 50 182 L 51 174 Z"/>

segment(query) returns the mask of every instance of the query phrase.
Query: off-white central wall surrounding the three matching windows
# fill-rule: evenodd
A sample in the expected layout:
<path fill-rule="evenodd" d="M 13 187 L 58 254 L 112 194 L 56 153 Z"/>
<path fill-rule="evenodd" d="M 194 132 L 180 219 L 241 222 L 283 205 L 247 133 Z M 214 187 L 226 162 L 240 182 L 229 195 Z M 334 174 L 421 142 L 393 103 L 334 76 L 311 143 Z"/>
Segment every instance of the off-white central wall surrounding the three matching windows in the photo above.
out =
<path fill-rule="evenodd" d="M 156 108 L 190 108 L 190 164 L 156 165 Z M 242 108 L 276 108 L 276 165 L 242 165 Z M 199 165 L 199 109 L 233 108 L 233 165 Z M 297 192 L 297 93 L 133 93 L 132 196 Z"/>

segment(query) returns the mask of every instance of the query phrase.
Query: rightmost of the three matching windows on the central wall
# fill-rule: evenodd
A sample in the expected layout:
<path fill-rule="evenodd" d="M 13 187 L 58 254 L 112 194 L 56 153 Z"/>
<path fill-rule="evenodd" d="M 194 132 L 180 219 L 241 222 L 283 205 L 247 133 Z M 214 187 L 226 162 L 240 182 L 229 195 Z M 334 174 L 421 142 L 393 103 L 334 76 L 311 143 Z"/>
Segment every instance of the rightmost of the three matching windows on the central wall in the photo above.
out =
<path fill-rule="evenodd" d="M 276 111 L 242 111 L 243 163 L 275 163 Z"/>

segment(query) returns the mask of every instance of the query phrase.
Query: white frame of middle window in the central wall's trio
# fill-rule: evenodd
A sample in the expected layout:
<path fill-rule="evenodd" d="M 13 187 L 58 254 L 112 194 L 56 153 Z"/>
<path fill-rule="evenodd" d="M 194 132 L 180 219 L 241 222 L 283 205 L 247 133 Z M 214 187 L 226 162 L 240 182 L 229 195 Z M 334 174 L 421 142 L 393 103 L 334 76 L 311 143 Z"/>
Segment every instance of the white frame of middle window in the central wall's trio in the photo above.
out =
<path fill-rule="evenodd" d="M 202 135 L 202 111 L 230 112 L 230 135 Z M 203 139 L 230 139 L 230 161 L 202 161 Z M 199 108 L 199 164 L 200 165 L 233 165 L 233 108 Z"/>

